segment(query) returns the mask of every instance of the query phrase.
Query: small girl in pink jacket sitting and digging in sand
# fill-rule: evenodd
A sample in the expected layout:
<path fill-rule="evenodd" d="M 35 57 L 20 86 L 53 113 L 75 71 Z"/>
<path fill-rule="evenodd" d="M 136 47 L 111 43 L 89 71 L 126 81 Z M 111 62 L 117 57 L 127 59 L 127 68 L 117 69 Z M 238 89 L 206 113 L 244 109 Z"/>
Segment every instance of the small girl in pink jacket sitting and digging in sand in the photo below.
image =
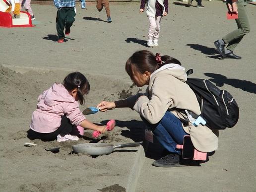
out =
<path fill-rule="evenodd" d="M 78 140 L 71 132 L 78 132 L 77 126 L 106 131 L 106 126 L 97 126 L 85 119 L 79 110 L 80 102 L 90 90 L 90 84 L 80 72 L 68 74 L 63 84 L 55 83 L 38 97 L 36 111 L 32 114 L 28 138 L 51 141 Z"/>

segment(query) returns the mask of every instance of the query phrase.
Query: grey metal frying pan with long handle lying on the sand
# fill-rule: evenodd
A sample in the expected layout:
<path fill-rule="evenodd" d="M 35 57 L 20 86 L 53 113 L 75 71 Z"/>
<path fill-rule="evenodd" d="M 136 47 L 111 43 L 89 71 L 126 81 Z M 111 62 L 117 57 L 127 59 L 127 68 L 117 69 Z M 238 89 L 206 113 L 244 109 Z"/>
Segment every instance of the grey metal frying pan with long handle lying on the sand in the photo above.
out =
<path fill-rule="evenodd" d="M 104 155 L 112 153 L 113 150 L 116 148 L 137 147 L 140 143 L 142 143 L 142 141 L 122 145 L 113 145 L 108 143 L 83 143 L 73 145 L 72 148 L 75 153 L 87 153 L 88 155 Z"/>

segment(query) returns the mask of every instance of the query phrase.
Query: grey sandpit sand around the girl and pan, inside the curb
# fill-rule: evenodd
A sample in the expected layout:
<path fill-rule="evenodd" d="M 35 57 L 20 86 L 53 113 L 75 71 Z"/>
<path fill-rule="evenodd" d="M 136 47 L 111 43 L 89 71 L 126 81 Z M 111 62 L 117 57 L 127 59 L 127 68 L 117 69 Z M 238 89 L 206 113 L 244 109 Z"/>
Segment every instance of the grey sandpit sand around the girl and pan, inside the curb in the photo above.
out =
<path fill-rule="evenodd" d="M 129 168 L 124 168 L 122 164 L 117 166 L 115 160 L 121 158 L 123 163 L 129 164 L 136 150 L 132 150 L 133 153 L 122 150 L 122 156 L 117 152 L 92 158 L 85 154 L 73 153 L 72 145 L 89 142 L 114 144 L 141 140 L 142 132 L 134 130 L 140 130 L 143 124 L 134 120 L 134 115 L 126 114 L 129 120 L 133 119 L 132 121 L 117 120 L 117 127 L 109 133 L 102 134 L 99 140 L 92 138 L 91 130 L 86 130 L 85 135 L 78 141 L 59 143 L 43 142 L 39 139 L 30 141 L 27 138 L 31 114 L 36 109 L 38 96 L 54 82 L 62 82 L 67 74 L 66 71 L 18 73 L 0 65 L 0 172 L 5 173 L 0 188 L 3 191 L 81 191 L 83 186 L 86 186 L 85 191 L 96 191 L 95 186 L 98 186 L 98 190 L 101 188 L 102 192 L 112 188 L 125 191 L 125 183 L 119 182 L 119 186 L 115 182 L 125 181 Z M 127 98 L 140 90 L 131 83 L 122 83 L 120 79 L 92 74 L 85 76 L 90 82 L 91 91 L 85 96 L 85 105 L 81 106 L 81 110 L 95 106 L 102 100 Z M 86 118 L 92 122 L 106 124 L 110 116 L 119 119 L 125 115 L 119 115 L 118 111 L 113 113 L 98 113 Z M 24 142 L 33 142 L 38 146 L 25 147 Z M 60 146 L 61 150 L 56 154 L 44 149 L 57 146 Z M 101 179 L 101 183 L 98 184 L 99 178 L 106 179 Z M 9 181 L 14 185 L 10 186 Z"/>

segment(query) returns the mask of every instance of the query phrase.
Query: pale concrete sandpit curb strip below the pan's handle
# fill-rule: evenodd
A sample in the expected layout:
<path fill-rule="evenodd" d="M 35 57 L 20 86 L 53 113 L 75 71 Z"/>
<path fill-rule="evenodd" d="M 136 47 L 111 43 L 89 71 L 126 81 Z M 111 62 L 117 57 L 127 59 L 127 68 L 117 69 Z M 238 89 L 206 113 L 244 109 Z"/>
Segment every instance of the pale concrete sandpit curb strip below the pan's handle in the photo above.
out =
<path fill-rule="evenodd" d="M 141 171 L 141 168 L 143 167 L 145 158 L 146 156 L 145 156 L 144 148 L 142 145 L 140 145 L 138 153 L 134 160 L 134 164 L 131 168 L 131 171 L 128 177 L 128 182 L 126 187 L 127 192 L 135 192 L 140 171 Z"/>

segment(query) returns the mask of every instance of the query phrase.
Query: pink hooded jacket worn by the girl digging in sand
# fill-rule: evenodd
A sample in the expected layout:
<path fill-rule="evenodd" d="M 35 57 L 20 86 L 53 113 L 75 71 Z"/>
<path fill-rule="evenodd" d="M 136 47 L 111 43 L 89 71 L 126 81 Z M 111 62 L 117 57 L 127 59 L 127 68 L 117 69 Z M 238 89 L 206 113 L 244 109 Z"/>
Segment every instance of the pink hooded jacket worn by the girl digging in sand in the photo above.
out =
<path fill-rule="evenodd" d="M 66 115 L 72 125 L 85 120 L 79 104 L 62 84 L 54 84 L 38 97 L 37 109 L 32 113 L 30 128 L 36 132 L 49 133 L 61 125 L 61 116 Z"/>

